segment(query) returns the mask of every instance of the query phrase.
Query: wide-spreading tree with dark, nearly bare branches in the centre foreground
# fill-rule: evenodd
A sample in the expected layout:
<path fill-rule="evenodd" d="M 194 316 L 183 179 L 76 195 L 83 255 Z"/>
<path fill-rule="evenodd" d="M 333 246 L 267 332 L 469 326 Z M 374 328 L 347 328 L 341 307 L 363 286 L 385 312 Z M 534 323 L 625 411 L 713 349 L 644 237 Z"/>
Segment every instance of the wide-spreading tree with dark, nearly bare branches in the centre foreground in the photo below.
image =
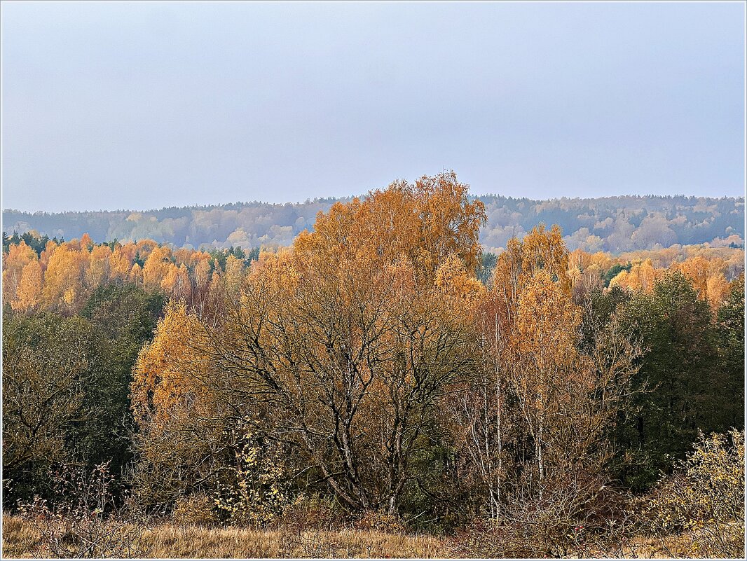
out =
<path fill-rule="evenodd" d="M 471 360 L 462 314 L 415 276 L 409 264 L 269 258 L 211 335 L 232 401 L 267 401 L 263 429 L 352 510 L 397 512 L 409 459 Z"/>

